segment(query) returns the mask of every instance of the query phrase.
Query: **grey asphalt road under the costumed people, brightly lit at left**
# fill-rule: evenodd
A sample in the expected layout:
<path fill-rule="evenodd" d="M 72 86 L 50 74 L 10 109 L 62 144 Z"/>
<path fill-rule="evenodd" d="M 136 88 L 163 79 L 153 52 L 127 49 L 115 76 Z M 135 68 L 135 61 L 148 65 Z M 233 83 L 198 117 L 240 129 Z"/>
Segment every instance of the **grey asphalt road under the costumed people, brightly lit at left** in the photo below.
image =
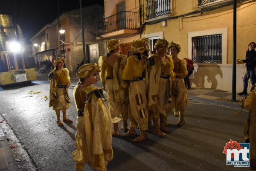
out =
<path fill-rule="evenodd" d="M 75 82 L 72 82 L 75 84 Z M 30 95 L 29 91 L 42 93 Z M 38 171 L 74 171 L 72 151 L 75 150 L 76 109 L 73 87 L 69 88 L 72 107 L 67 115 L 73 124 L 58 127 L 55 111 L 49 108 L 49 82 L 34 81 L 32 85 L 0 88 L 0 115 L 6 120 L 6 136 L 17 141 L 23 153 L 29 154 L 31 165 Z M 169 116 L 167 123 L 172 133 L 159 138 L 148 131 L 148 139 L 133 142 L 129 137 L 113 137 L 114 158 L 108 171 L 246 171 L 226 165 L 222 153 L 230 139 L 243 140 L 243 126 L 247 112 L 232 118 L 237 110 L 189 101 L 186 124 L 177 128 L 178 118 Z M 62 116 L 62 115 L 61 115 Z M 1 125 L 0 125 L 1 126 Z M 7 128 L 9 127 L 9 129 Z M 11 133 L 13 131 L 13 133 Z M 123 134 L 123 131 L 120 130 Z M 137 132 L 139 133 L 139 132 Z M 15 140 L 10 143 L 17 142 Z M 25 154 L 24 154 L 25 155 Z M 22 171 L 29 167 L 21 167 Z M 93 171 L 87 165 L 86 171 Z"/>

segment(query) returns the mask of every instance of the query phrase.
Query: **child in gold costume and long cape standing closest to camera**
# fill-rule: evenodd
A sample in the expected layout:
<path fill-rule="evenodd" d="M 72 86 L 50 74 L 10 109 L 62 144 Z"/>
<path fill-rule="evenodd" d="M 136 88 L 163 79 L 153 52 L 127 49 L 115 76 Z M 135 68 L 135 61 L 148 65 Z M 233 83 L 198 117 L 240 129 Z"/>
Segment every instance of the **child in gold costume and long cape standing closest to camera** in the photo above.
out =
<path fill-rule="evenodd" d="M 94 63 L 82 65 L 76 73 L 79 78 L 73 93 L 78 111 L 73 151 L 76 171 L 84 171 L 88 162 L 96 171 L 107 171 L 108 161 L 113 159 L 111 113 L 102 89 L 91 86 L 97 83 L 99 71 L 99 65 Z"/>

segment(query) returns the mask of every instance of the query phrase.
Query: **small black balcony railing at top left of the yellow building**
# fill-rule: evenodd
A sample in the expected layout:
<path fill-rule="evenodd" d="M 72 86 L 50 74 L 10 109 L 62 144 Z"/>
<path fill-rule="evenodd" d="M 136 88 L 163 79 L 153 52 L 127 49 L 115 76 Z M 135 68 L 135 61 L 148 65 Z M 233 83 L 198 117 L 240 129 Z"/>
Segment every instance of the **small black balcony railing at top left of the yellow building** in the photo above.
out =
<path fill-rule="evenodd" d="M 147 20 L 166 14 L 172 14 L 171 0 L 146 0 Z"/>

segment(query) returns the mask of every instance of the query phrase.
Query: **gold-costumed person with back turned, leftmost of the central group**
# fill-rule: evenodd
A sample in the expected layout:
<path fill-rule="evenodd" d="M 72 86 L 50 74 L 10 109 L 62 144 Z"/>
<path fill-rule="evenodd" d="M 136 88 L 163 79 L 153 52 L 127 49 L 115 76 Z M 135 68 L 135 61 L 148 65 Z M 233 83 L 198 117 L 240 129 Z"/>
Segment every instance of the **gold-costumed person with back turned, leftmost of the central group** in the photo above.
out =
<path fill-rule="evenodd" d="M 121 113 L 123 124 L 122 129 L 127 132 L 128 105 L 125 98 L 125 91 L 119 91 L 119 84 L 122 82 L 122 70 L 124 68 L 126 57 L 119 53 L 119 40 L 112 39 L 108 42 L 108 54 L 99 58 L 100 79 L 107 92 L 108 105 L 111 117 L 116 118 Z M 114 123 L 113 136 L 119 136 L 118 123 Z"/>

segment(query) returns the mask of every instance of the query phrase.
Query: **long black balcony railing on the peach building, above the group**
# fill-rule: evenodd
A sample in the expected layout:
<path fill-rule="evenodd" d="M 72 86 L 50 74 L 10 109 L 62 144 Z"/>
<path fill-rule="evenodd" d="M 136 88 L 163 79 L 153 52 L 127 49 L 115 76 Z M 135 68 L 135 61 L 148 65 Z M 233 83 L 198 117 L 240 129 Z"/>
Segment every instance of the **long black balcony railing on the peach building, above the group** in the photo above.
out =
<path fill-rule="evenodd" d="M 137 12 L 122 11 L 97 22 L 97 35 L 122 29 L 137 29 L 140 18 Z"/>

